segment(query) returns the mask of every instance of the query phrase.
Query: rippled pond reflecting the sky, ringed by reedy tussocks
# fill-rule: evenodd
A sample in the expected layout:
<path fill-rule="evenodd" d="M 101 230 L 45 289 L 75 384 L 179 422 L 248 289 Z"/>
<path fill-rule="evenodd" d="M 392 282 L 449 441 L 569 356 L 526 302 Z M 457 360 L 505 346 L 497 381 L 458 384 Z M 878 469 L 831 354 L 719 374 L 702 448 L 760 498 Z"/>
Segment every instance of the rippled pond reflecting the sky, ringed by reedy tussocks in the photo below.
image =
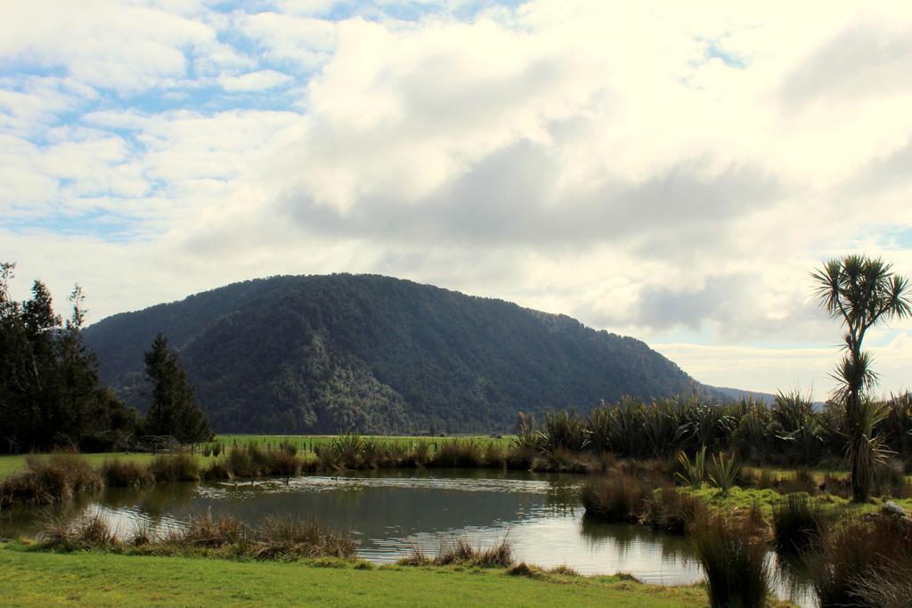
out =
<path fill-rule="evenodd" d="M 489 546 L 503 537 L 517 560 L 545 568 L 567 565 L 582 574 L 629 572 L 644 582 L 685 584 L 702 579 L 682 536 L 586 520 L 578 500 L 583 478 L 478 469 L 386 470 L 304 476 L 255 483 L 175 483 L 109 489 L 75 505 L 96 511 L 122 534 L 140 524 L 181 525 L 211 510 L 255 523 L 290 513 L 347 531 L 358 554 L 389 563 L 414 546 L 435 554 L 453 536 Z M 41 510 L 0 511 L 0 537 L 34 535 Z M 776 593 L 809 604 L 806 585 L 779 577 Z"/>

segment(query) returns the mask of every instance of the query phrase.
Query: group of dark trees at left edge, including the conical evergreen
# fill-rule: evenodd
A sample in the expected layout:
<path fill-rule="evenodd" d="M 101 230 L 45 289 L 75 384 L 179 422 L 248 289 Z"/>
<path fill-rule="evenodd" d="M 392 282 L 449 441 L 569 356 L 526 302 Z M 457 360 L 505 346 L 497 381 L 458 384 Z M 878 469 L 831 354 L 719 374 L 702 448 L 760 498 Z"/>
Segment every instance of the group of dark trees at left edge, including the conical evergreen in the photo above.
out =
<path fill-rule="evenodd" d="M 82 289 L 76 285 L 69 295 L 72 310 L 64 320 L 54 312 L 51 294 L 41 281 L 33 283 L 30 299 L 16 302 L 10 297 L 15 268 L 14 263 L 0 263 L 0 452 L 99 451 L 128 448 L 146 434 L 181 441 L 211 435 L 204 418 L 192 419 L 192 414 L 169 414 L 165 420 L 175 423 L 172 428 L 155 417 L 143 420 L 101 386 L 97 357 L 83 342 Z M 175 405 L 195 407 L 182 374 L 173 356 L 164 356 L 161 369 L 150 373 L 153 400 L 160 395 L 167 400 L 159 408 L 162 412 Z"/>

